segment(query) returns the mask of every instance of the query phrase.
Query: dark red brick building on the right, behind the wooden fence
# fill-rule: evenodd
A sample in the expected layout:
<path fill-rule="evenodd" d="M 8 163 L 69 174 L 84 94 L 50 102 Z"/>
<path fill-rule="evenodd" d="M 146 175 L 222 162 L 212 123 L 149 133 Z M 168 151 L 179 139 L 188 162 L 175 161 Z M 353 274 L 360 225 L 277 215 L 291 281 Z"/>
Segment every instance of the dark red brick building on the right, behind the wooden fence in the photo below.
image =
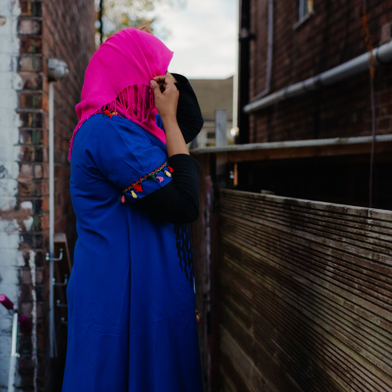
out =
<path fill-rule="evenodd" d="M 392 2 L 368 1 L 366 18 L 372 47 L 388 45 Z M 323 84 L 318 78 L 366 53 L 366 38 L 362 0 L 241 0 L 240 143 L 372 135 L 367 67 L 359 73 L 350 71 L 332 84 Z M 390 135 L 391 66 L 381 55 L 374 60 L 375 131 L 376 135 Z M 316 78 L 311 88 L 297 85 L 301 93 L 289 94 L 293 85 L 312 77 Z M 270 100 L 272 94 L 279 97 Z M 261 106 L 257 107 L 258 102 Z M 390 147 L 376 141 L 375 151 L 372 206 L 392 209 Z M 290 156 L 294 159 L 239 165 L 240 185 L 270 189 L 282 196 L 369 205 L 370 145 L 366 152 L 361 149 L 358 154 L 330 152 L 328 157 L 321 158 L 315 152 L 312 157 L 299 158 L 298 154 L 295 159 L 293 152 Z"/>

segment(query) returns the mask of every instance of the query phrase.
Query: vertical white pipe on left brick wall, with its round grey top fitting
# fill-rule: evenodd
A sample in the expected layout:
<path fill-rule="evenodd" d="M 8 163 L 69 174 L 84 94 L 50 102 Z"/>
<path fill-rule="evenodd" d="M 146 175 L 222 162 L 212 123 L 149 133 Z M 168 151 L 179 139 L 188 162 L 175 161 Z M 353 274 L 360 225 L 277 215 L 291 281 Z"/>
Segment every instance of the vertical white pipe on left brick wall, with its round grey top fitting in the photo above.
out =
<path fill-rule="evenodd" d="M 56 336 L 54 330 L 54 82 L 65 78 L 69 74 L 68 65 L 62 60 L 50 58 L 48 60 L 49 81 L 49 348 L 50 356 L 57 356 Z"/>

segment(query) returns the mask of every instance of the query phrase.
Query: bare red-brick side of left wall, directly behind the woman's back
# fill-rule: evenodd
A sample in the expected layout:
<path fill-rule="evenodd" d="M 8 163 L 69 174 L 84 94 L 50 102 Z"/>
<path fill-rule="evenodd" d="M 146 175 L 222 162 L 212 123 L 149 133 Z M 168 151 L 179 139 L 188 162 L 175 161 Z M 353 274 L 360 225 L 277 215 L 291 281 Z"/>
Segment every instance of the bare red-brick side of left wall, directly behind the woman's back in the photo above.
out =
<path fill-rule="evenodd" d="M 69 140 L 78 121 L 75 105 L 87 64 L 95 51 L 94 1 L 42 1 L 42 54 L 64 60 L 69 76 L 54 85 L 54 232 L 66 232 L 71 245 L 76 240 L 74 215 L 69 191 Z M 45 91 L 45 95 L 47 90 Z M 70 249 L 73 252 L 73 246 Z"/>

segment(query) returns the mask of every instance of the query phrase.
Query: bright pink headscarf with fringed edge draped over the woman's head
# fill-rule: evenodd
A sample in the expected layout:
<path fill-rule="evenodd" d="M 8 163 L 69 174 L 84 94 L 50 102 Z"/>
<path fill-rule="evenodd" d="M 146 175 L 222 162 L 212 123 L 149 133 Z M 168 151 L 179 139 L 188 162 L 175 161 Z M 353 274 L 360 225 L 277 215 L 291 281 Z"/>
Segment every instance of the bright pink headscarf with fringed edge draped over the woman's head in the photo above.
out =
<path fill-rule="evenodd" d="M 172 56 L 162 41 L 134 27 L 119 31 L 100 45 L 87 66 L 81 102 L 75 107 L 79 122 L 73 131 L 68 159 L 78 129 L 105 109 L 118 112 L 166 143 L 165 132 L 156 125 L 154 116 L 158 111 L 150 80 L 166 73 Z"/>

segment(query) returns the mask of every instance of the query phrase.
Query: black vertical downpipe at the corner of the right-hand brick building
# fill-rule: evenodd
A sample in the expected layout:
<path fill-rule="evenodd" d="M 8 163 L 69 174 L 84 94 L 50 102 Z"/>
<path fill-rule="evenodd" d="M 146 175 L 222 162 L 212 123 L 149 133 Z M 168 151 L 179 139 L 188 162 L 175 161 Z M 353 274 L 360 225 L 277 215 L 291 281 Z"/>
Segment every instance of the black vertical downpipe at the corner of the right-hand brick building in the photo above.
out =
<path fill-rule="evenodd" d="M 238 135 L 239 144 L 249 143 L 249 115 L 243 107 L 249 103 L 250 0 L 240 0 L 240 34 L 238 53 Z"/>

